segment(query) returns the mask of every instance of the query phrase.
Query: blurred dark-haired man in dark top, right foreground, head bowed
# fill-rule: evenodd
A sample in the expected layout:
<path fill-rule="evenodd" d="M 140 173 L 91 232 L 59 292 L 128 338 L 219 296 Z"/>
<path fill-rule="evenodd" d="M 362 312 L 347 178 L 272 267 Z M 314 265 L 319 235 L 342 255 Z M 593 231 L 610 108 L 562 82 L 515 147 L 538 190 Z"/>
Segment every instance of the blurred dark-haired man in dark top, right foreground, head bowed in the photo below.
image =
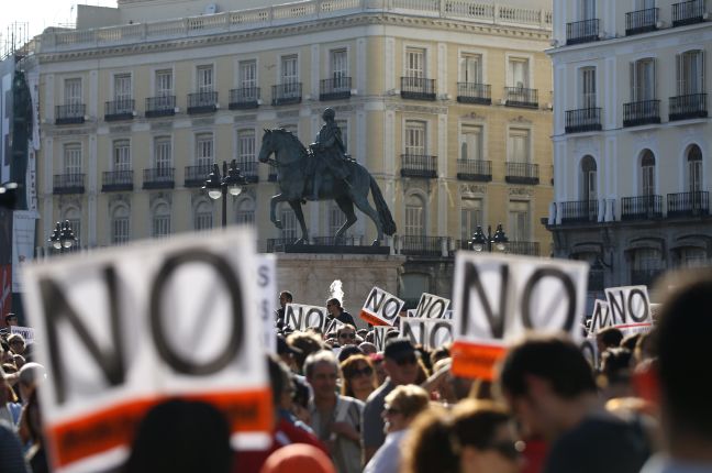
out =
<path fill-rule="evenodd" d="M 548 440 L 545 473 L 637 473 L 649 455 L 639 426 L 602 408 L 591 369 L 568 340 L 531 337 L 514 345 L 499 382 L 524 430 Z"/>

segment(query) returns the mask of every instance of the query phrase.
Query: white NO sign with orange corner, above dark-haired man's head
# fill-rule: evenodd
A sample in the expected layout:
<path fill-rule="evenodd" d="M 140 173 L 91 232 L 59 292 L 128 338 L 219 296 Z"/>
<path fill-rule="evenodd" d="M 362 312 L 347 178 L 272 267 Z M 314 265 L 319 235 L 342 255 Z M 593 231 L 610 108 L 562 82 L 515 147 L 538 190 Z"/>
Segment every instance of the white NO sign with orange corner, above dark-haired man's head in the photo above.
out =
<path fill-rule="evenodd" d="M 453 373 L 492 378 L 508 343 L 527 331 L 581 338 L 588 264 L 457 252 Z"/>

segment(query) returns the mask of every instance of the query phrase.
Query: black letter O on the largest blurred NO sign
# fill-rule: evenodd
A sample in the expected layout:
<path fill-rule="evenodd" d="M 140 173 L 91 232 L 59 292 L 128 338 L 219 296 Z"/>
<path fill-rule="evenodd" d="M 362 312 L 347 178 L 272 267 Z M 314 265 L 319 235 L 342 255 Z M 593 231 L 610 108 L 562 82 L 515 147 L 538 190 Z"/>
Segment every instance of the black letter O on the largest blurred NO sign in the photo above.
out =
<path fill-rule="evenodd" d="M 166 331 L 163 324 L 162 295 L 165 286 L 179 266 L 189 263 L 207 264 L 212 266 L 212 268 L 220 275 L 222 282 L 227 287 L 233 315 L 231 318 L 232 331 L 230 333 L 229 344 L 213 360 L 209 360 L 207 363 L 202 364 L 196 364 L 193 360 L 187 360 L 176 353 L 166 339 Z M 237 280 L 232 268 L 222 257 L 203 250 L 192 250 L 169 256 L 158 271 L 151 289 L 151 330 L 156 345 L 156 351 L 160 358 L 178 373 L 192 376 L 205 376 L 219 373 L 235 359 L 240 349 L 243 346 L 245 331 L 242 299 L 240 280 Z"/>

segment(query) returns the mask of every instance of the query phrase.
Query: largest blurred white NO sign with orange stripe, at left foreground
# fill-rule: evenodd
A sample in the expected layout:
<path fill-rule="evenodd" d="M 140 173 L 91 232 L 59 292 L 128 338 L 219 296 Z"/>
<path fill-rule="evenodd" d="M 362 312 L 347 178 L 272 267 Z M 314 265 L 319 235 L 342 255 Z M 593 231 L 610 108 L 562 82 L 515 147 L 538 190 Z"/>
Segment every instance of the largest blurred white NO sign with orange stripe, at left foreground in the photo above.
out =
<path fill-rule="evenodd" d="M 40 395 L 56 471 L 115 466 L 145 413 L 176 396 L 223 410 L 235 444 L 268 444 L 255 240 L 236 229 L 24 268 L 37 361 L 49 372 Z"/>

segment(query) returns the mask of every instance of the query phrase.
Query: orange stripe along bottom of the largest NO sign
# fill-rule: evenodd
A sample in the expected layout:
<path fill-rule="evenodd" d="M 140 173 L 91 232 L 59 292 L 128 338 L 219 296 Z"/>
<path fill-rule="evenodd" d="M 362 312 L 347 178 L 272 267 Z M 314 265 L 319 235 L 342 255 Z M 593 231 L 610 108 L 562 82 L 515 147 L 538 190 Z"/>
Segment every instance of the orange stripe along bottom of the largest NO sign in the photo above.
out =
<path fill-rule="evenodd" d="M 55 466 L 131 444 L 138 422 L 153 406 L 171 398 L 203 400 L 222 410 L 233 432 L 269 432 L 272 427 L 270 389 L 189 396 L 156 396 L 118 404 L 48 428 Z"/>

